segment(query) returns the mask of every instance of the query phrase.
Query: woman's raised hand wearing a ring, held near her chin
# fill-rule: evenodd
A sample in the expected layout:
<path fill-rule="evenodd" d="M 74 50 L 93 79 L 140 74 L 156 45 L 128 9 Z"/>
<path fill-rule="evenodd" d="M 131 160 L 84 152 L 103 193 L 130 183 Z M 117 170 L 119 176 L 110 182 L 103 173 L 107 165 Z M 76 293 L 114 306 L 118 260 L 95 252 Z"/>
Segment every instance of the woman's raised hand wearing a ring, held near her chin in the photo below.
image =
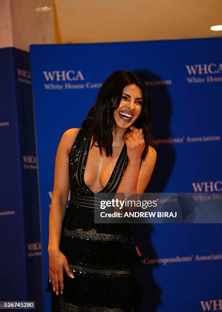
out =
<path fill-rule="evenodd" d="M 138 129 L 135 126 L 130 127 L 131 132 L 124 136 L 127 147 L 127 156 L 130 162 L 141 162 L 142 154 L 145 149 L 145 140 L 143 129 Z M 138 136 L 141 135 L 143 139 Z"/>

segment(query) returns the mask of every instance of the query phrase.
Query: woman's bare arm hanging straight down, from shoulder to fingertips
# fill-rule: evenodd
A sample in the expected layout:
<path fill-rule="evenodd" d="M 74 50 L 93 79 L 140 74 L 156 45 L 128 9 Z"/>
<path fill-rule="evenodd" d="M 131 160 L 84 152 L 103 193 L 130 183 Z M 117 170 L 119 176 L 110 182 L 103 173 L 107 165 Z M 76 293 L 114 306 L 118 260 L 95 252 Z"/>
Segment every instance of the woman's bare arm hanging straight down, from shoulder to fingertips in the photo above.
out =
<path fill-rule="evenodd" d="M 65 215 L 69 193 L 69 152 L 77 136 L 79 129 L 67 130 L 59 143 L 54 170 L 54 186 L 49 212 L 49 281 L 52 282 L 53 290 L 59 294 L 64 287 L 63 270 L 70 277 L 74 277 L 70 271 L 66 256 L 59 250 L 62 220 Z"/>

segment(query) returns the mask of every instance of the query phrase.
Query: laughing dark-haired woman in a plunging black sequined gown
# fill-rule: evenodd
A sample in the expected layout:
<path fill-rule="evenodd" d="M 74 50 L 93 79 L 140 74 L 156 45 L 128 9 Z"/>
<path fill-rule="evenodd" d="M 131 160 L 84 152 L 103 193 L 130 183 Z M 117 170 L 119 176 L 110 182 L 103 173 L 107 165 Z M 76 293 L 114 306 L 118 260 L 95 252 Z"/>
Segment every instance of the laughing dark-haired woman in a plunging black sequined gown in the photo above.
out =
<path fill-rule="evenodd" d="M 94 223 L 93 200 L 98 192 L 145 191 L 156 161 L 150 117 L 144 82 L 119 70 L 102 84 L 82 127 L 63 134 L 49 214 L 52 311 L 136 311 L 141 304 L 134 229 Z"/>

